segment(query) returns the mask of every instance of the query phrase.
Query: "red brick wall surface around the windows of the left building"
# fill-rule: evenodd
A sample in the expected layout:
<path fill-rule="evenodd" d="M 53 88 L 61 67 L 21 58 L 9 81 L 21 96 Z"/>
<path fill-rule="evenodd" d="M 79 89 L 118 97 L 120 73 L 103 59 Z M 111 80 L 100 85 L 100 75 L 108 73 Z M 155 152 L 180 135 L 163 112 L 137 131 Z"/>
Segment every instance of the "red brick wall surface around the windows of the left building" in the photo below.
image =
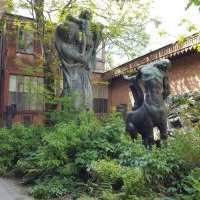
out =
<path fill-rule="evenodd" d="M 9 77 L 10 75 L 30 75 L 30 68 L 38 66 L 40 57 L 42 56 L 41 46 L 38 41 L 34 41 L 34 50 L 32 54 L 19 52 L 17 50 L 17 26 L 14 24 L 14 18 L 8 19 L 6 31 L 6 55 L 5 55 L 5 69 L 1 77 L 1 97 L 0 97 L 0 120 L 2 121 L 3 112 L 9 104 Z M 41 64 L 41 63 L 40 63 Z M 29 68 L 29 69 L 27 69 Z M 32 70 L 33 71 L 33 70 Z M 43 76 L 42 72 L 32 74 L 32 76 Z M 33 123 L 41 124 L 44 121 L 44 116 L 39 112 L 26 111 L 17 113 L 13 122 L 21 122 L 23 115 L 30 115 Z M 2 124 L 2 122 L 1 122 Z"/>

